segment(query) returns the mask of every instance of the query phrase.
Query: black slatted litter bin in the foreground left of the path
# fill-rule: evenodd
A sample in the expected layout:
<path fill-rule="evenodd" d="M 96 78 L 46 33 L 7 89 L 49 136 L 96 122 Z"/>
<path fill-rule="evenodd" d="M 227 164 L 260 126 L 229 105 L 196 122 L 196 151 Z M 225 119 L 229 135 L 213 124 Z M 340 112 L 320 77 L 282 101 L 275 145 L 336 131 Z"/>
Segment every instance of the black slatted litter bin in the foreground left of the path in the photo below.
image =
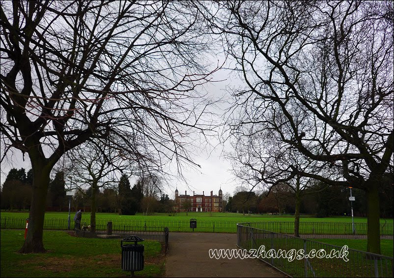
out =
<path fill-rule="evenodd" d="M 130 236 L 120 241 L 120 246 L 122 247 L 122 270 L 135 271 L 143 270 L 143 251 L 144 246 L 137 244 L 143 239 L 137 236 Z M 123 242 L 134 242 L 134 244 L 125 244 Z"/>

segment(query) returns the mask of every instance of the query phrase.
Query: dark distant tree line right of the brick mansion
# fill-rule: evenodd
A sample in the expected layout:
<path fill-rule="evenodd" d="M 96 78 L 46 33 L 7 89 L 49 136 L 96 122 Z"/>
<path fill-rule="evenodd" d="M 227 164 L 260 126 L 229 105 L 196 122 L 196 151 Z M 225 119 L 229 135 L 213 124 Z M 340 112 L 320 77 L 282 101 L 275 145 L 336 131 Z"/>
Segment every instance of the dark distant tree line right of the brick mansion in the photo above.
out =
<path fill-rule="evenodd" d="M 393 178 L 391 178 L 393 179 Z M 354 216 L 366 217 L 366 193 L 364 190 L 352 188 Z M 350 216 L 351 204 L 349 201 L 350 188 L 343 186 L 328 186 L 321 182 L 306 188 L 301 197 L 302 214 L 316 217 Z M 393 182 L 385 183 L 379 190 L 380 216 L 393 217 Z M 278 185 L 260 194 L 254 191 L 241 190 L 229 196 L 225 205 L 227 212 L 253 213 L 253 214 L 294 214 L 295 196 L 288 186 Z"/>

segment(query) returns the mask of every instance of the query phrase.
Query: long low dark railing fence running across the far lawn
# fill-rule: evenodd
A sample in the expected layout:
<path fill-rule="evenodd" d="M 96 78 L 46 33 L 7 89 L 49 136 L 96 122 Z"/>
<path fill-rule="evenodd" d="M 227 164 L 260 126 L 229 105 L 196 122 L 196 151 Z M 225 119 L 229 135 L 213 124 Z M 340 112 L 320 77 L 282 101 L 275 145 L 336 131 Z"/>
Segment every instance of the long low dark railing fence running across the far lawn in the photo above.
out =
<path fill-rule="evenodd" d="M 125 226 L 132 227 L 138 231 L 161 231 L 163 226 L 168 227 L 171 232 L 193 232 L 190 228 L 189 220 L 160 220 L 160 219 L 97 219 L 96 230 L 106 230 L 107 223 L 113 223 L 113 230 L 123 230 Z M 237 223 L 235 220 L 197 220 L 197 228 L 194 232 L 213 232 L 213 233 L 236 233 Z M 86 221 L 89 225 L 89 221 Z M 294 233 L 294 222 L 273 222 L 258 221 L 254 223 L 254 227 L 262 230 L 269 230 L 281 234 L 292 235 Z M 82 223 L 83 224 L 83 223 Z M 21 217 L 1 217 L 1 229 L 24 229 L 26 226 L 26 218 Z M 354 223 L 355 233 L 353 234 L 352 223 L 348 222 L 300 222 L 300 234 L 309 235 L 345 235 L 361 236 L 367 234 L 367 223 Z M 74 228 L 74 221 L 71 221 L 71 229 Z M 61 218 L 44 219 L 45 230 L 68 230 L 68 220 Z M 393 223 L 381 223 L 380 234 L 393 238 Z M 338 237 L 337 237 L 338 238 Z"/>

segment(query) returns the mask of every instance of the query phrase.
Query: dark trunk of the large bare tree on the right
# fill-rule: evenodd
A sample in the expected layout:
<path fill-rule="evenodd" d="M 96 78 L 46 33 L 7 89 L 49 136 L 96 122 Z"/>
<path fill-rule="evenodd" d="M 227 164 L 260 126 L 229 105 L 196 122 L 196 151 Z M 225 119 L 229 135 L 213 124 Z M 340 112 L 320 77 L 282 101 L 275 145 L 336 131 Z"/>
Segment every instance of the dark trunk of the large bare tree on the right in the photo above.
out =
<path fill-rule="evenodd" d="M 367 244 L 366 251 L 380 254 L 380 208 L 379 208 L 379 193 L 375 179 L 369 179 L 369 186 L 366 189 L 367 201 Z"/>

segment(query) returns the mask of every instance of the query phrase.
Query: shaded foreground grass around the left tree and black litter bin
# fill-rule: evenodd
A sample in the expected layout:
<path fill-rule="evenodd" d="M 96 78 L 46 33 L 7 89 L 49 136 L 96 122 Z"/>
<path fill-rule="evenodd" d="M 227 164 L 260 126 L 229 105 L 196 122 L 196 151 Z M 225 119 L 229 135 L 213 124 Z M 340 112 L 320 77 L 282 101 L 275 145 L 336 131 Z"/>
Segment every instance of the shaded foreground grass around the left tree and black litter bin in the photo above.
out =
<path fill-rule="evenodd" d="M 44 231 L 46 253 L 21 254 L 22 231 L 1 230 L 1 277 L 130 277 L 121 270 L 119 239 L 87 239 Z M 158 242 L 144 242 L 144 269 L 137 277 L 161 277 L 165 257 Z"/>

